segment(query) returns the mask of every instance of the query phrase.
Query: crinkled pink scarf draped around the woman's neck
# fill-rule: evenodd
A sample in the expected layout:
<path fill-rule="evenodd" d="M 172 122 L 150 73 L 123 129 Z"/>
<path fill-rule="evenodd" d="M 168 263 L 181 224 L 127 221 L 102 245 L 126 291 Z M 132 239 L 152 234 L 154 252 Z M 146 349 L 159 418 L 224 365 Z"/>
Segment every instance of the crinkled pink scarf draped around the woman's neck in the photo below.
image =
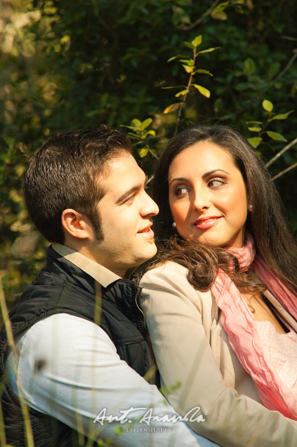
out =
<path fill-rule="evenodd" d="M 245 272 L 251 267 L 274 297 L 297 319 L 297 298 L 282 284 L 260 256 L 255 256 L 253 242 L 252 236 L 249 235 L 242 248 L 230 248 L 229 251 L 238 259 L 240 270 Z M 243 368 L 254 380 L 263 405 L 297 420 L 296 397 L 265 358 L 255 319 L 245 299 L 222 270 L 219 270 L 211 291 L 222 310 L 221 323 L 228 335 L 230 346 Z"/>

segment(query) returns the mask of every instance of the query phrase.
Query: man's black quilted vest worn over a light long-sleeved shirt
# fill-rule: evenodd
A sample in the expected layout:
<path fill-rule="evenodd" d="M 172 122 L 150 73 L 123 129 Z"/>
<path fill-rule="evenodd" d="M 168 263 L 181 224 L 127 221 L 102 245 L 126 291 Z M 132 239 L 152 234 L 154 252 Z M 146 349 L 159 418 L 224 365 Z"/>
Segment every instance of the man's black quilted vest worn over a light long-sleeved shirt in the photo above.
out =
<path fill-rule="evenodd" d="M 137 373 L 149 369 L 145 319 L 137 299 L 141 288 L 132 281 L 117 280 L 103 288 L 52 247 L 47 266 L 25 290 L 9 317 L 16 335 L 38 320 L 56 313 L 69 313 L 95 321 L 109 335 L 122 360 Z M 0 394 L 6 442 L 25 447 L 24 421 L 17 396 L 4 373 L 6 331 L 0 333 Z M 36 365 L 38 368 L 39 366 Z M 78 447 L 77 432 L 38 411 L 29 409 L 35 447 Z M 87 443 L 87 439 L 83 444 Z M 88 444 L 89 445 L 89 444 Z"/>

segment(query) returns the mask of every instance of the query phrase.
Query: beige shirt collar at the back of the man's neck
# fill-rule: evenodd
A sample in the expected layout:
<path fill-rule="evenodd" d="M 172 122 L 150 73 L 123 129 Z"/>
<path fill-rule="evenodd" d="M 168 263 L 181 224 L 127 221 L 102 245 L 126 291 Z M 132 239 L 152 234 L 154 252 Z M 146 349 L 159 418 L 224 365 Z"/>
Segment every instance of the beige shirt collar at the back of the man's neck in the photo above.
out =
<path fill-rule="evenodd" d="M 87 258 L 86 256 L 74 251 L 65 245 L 54 242 L 52 247 L 57 253 L 63 256 L 68 261 L 72 262 L 76 267 L 79 267 L 87 275 L 94 278 L 103 287 L 109 286 L 114 281 L 122 279 L 120 276 L 108 270 L 106 267 L 98 264 L 95 261 Z"/>

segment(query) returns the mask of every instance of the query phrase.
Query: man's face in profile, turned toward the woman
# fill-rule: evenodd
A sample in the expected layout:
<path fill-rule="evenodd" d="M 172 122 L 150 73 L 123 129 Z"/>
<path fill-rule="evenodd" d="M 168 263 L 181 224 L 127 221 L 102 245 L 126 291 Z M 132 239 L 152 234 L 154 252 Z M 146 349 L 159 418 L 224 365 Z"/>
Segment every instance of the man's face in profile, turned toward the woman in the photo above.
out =
<path fill-rule="evenodd" d="M 133 156 L 123 153 L 109 162 L 100 183 L 105 195 L 98 203 L 103 240 L 93 236 L 92 255 L 104 267 L 124 276 L 156 253 L 152 216 L 158 207 L 145 191 L 146 175 Z"/>

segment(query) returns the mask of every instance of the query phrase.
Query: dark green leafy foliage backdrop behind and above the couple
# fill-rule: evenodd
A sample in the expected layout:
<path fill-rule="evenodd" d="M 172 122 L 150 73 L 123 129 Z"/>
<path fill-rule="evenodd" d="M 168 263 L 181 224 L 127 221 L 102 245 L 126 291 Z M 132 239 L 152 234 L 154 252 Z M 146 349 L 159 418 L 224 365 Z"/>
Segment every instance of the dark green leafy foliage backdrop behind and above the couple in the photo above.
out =
<path fill-rule="evenodd" d="M 47 243 L 28 219 L 21 175 L 49 136 L 100 123 L 126 126 L 148 176 L 168 138 L 194 123 L 241 130 L 264 160 L 294 141 L 294 6 L 293 0 L 3 3 L 0 270 L 7 273 L 9 305 L 44 263 Z M 290 148 L 269 166 L 272 175 L 294 165 L 296 145 Z M 291 170 L 277 181 L 296 229 L 295 179 Z"/>

